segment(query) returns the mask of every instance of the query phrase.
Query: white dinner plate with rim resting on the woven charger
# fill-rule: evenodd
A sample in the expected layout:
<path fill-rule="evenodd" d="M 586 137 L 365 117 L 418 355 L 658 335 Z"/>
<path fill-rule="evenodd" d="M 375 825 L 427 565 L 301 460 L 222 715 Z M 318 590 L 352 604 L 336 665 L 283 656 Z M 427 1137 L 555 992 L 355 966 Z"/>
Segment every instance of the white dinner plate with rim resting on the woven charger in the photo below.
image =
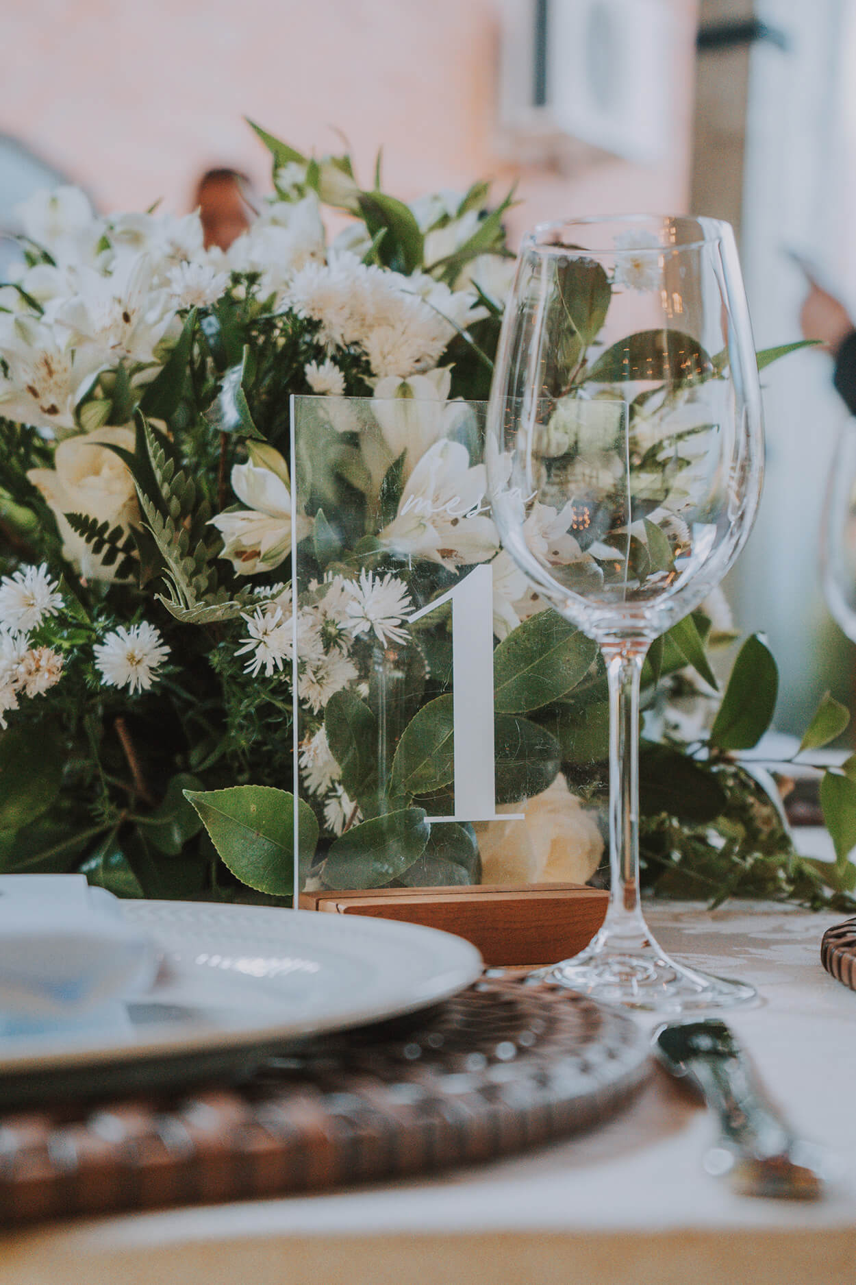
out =
<path fill-rule="evenodd" d="M 359 915 L 127 901 L 154 989 L 39 1032 L 0 1032 L 0 1105 L 249 1070 L 284 1043 L 415 1013 L 481 974 L 459 937 Z"/>

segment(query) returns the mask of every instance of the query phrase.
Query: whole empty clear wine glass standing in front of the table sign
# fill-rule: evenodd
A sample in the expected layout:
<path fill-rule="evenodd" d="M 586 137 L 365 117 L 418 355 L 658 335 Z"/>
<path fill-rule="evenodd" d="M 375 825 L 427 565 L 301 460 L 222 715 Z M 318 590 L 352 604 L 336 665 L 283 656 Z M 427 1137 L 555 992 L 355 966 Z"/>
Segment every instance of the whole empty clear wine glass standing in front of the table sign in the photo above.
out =
<path fill-rule="evenodd" d="M 757 362 L 730 226 L 639 216 L 527 234 L 486 446 L 506 549 L 599 644 L 610 691 L 606 921 L 539 975 L 663 1013 L 744 1002 L 751 986 L 671 960 L 639 898 L 643 662 L 729 569 L 761 493 Z"/>

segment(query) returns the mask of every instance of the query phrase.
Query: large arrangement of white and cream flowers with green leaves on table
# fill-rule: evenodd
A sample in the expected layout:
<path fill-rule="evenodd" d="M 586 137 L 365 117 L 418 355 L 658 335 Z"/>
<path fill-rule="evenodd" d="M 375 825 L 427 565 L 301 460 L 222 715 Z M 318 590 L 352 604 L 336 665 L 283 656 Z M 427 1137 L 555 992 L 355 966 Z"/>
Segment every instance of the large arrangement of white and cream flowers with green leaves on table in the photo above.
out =
<path fill-rule="evenodd" d="M 74 189 L 21 211 L 22 262 L 0 288 L 0 869 L 83 870 L 126 896 L 282 898 L 296 830 L 320 885 L 589 878 L 603 673 L 499 549 L 474 450 L 509 198 L 492 206 L 475 184 L 408 206 L 380 163 L 362 188 L 348 155 L 258 134 L 273 194 L 226 252 L 204 248 L 196 215 L 101 217 Z M 334 240 L 325 204 L 350 216 Z M 317 416 L 299 481 L 291 394 Z M 530 535 L 557 556 L 572 538 L 552 510 Z M 497 714 L 498 811 L 530 821 L 513 837 L 426 821 L 449 811 L 452 642 L 448 612 L 409 618 L 481 564 L 494 672 L 513 693 Z M 717 636 L 728 622 L 696 613 L 648 673 L 665 720 L 643 753 L 646 876 L 850 905 L 851 774 L 824 781 L 839 861 L 821 870 L 734 759 L 775 703 L 762 641 L 740 650 L 708 736 L 678 722 L 674 698 L 715 686 Z M 542 662 L 552 687 L 533 703 L 522 676 Z M 803 748 L 842 720 L 824 700 Z"/>

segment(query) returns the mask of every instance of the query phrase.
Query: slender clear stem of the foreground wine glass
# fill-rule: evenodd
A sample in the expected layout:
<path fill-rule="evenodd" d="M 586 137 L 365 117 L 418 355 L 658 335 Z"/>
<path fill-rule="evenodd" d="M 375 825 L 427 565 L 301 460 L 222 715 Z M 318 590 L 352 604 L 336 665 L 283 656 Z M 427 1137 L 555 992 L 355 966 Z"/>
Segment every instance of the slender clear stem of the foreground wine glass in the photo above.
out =
<path fill-rule="evenodd" d="M 603 642 L 610 685 L 610 905 L 606 930 L 638 937 L 639 903 L 639 691 L 648 640 Z"/>

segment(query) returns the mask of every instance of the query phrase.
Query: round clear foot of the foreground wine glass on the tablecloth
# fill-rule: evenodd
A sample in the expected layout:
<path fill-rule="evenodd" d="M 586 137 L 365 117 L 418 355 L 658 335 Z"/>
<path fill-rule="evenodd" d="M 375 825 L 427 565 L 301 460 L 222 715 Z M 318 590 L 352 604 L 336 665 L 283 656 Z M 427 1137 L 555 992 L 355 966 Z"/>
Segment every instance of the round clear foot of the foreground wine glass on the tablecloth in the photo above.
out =
<path fill-rule="evenodd" d="M 539 969 L 530 980 L 566 986 L 604 1004 L 669 1015 L 730 1009 L 757 998 L 755 987 L 746 982 L 678 964 L 649 935 L 612 942 L 598 934 L 579 955 Z"/>

